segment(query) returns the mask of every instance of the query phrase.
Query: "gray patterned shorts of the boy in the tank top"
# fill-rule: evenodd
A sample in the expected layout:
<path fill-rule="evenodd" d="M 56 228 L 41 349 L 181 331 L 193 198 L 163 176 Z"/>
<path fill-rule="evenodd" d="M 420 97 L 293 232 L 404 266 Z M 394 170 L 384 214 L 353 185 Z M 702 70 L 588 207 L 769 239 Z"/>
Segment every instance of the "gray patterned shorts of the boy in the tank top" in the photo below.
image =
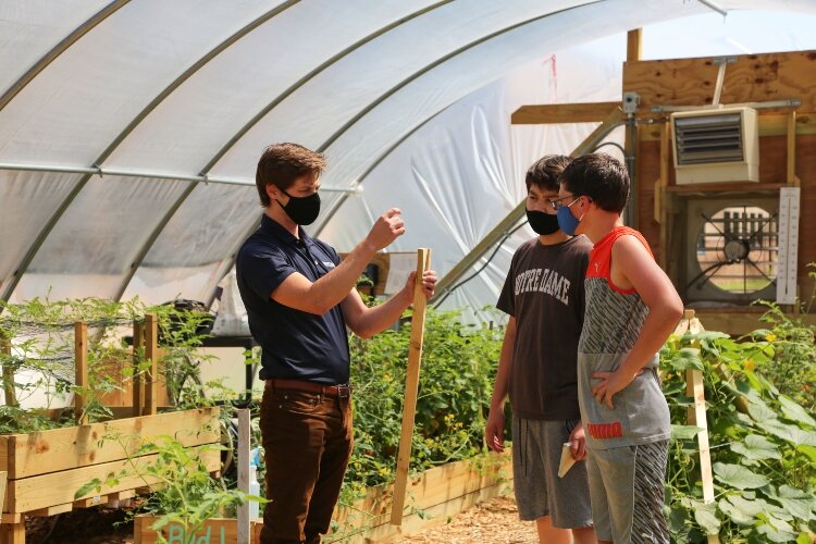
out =
<path fill-rule="evenodd" d="M 663 516 L 668 450 L 668 441 L 589 450 L 586 471 L 598 540 L 668 544 Z"/>

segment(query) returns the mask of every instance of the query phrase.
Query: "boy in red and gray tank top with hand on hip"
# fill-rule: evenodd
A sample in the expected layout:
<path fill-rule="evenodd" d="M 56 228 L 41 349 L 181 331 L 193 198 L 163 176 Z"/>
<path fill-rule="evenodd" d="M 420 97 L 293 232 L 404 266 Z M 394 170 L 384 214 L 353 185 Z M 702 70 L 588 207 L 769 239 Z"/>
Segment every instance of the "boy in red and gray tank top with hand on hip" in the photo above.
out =
<path fill-rule="evenodd" d="M 683 306 L 643 236 L 623 225 L 626 168 L 597 153 L 560 175 L 558 224 L 594 246 L 584 281 L 578 391 L 598 542 L 668 544 L 663 487 L 669 411 L 658 351 Z"/>

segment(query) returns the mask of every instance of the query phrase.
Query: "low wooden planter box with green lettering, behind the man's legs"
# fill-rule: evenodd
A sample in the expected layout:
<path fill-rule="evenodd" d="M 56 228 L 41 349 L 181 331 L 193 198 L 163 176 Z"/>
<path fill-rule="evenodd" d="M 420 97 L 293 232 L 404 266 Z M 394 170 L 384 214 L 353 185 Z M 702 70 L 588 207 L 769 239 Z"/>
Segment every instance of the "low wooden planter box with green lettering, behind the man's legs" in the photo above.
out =
<path fill-rule="evenodd" d="M 334 521 L 338 529 L 330 532 L 323 542 L 373 543 L 391 541 L 399 534 L 410 534 L 425 527 L 444 523 L 448 516 L 458 514 L 482 500 L 504 495 L 512 490 L 511 457 L 487 454 L 475 459 L 452 462 L 428 470 L 410 480 L 407 514 L 403 524 L 391 524 L 391 505 L 394 485 L 369 489 L 366 496 L 354 506 L 338 506 Z M 422 510 L 420 517 L 416 510 Z M 150 529 L 152 516 L 138 516 L 134 523 L 135 543 L 152 544 L 158 533 Z M 250 522 L 252 544 L 260 543 L 262 520 Z M 168 527 L 162 534 L 181 536 L 180 527 Z M 208 521 L 197 533 L 198 544 L 226 544 L 236 542 L 237 520 L 218 518 Z"/>

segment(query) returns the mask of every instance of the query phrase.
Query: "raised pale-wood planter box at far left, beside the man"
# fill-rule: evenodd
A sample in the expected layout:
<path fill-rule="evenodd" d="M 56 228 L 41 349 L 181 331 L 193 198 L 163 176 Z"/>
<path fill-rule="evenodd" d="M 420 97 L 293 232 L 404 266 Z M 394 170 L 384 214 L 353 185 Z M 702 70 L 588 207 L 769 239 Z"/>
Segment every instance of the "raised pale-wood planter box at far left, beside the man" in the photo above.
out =
<path fill-rule="evenodd" d="M 131 477 L 103 495 L 95 492 L 75 498 L 76 491 L 94 478 L 104 479 L 131 467 L 133 455 L 145 440 L 173 436 L 188 447 L 221 441 L 218 408 L 163 412 L 53 429 L 30 434 L 0 436 L 0 472 L 8 472 L 0 543 L 25 542 L 24 516 L 51 516 L 75 507 L 129 498 L 135 490 L 156 482 Z M 135 459 L 137 465 L 154 462 L 157 455 Z M 221 469 L 218 450 L 202 452 L 207 468 Z M 22 533 L 22 535 L 21 535 Z"/>

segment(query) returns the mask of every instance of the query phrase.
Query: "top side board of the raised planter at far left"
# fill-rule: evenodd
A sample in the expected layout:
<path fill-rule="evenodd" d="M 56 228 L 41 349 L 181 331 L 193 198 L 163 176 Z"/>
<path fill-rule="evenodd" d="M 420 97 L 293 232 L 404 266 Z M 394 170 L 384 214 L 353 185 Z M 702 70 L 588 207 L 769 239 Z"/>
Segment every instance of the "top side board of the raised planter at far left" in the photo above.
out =
<path fill-rule="evenodd" d="M 148 436 L 174 436 L 185 446 L 219 442 L 218 415 L 218 408 L 199 408 L 3 435 L 0 436 L 0 470 L 9 472 L 9 480 L 17 480 L 124 459 L 138 448 L 141 438 Z M 106 436 L 109 438 L 102 441 Z M 125 447 L 113 436 L 122 436 Z"/>

